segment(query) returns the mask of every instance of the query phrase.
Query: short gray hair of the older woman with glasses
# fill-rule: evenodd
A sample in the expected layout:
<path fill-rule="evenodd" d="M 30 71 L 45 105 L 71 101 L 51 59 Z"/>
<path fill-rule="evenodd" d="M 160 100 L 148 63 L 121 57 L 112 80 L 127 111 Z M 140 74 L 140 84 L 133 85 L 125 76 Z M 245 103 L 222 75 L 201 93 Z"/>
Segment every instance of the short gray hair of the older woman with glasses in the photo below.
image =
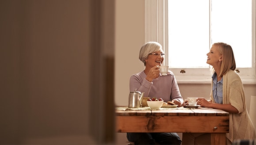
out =
<path fill-rule="evenodd" d="M 144 66 L 146 66 L 145 60 L 148 57 L 148 54 L 151 54 L 156 51 L 162 50 L 162 45 L 158 42 L 147 42 L 145 43 L 139 51 L 139 60 L 144 63 Z"/>

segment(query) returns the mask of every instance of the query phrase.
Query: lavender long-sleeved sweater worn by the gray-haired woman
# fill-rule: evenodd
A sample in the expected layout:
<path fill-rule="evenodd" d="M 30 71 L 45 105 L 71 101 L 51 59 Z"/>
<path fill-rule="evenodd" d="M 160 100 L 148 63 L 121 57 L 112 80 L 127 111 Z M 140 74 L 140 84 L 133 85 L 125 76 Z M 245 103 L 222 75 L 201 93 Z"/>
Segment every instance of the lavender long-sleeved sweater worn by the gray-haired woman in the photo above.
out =
<path fill-rule="evenodd" d="M 133 92 L 137 89 L 137 91 L 145 92 L 144 97 L 162 98 L 165 102 L 176 99 L 181 101 L 181 104 L 183 103 L 173 72 L 168 71 L 167 76 L 160 74 L 152 82 L 147 81 L 146 76 L 144 71 L 133 74 L 130 78 L 130 91 Z"/>

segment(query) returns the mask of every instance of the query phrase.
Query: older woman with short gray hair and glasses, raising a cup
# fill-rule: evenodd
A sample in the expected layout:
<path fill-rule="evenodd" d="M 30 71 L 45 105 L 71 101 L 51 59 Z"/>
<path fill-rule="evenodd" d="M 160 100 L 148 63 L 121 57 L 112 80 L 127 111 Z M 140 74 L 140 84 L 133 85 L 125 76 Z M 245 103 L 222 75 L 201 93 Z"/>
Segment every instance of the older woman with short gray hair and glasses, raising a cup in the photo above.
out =
<path fill-rule="evenodd" d="M 162 98 L 181 106 L 183 98 L 173 72 L 168 71 L 164 76 L 159 71 L 164 55 L 160 43 L 148 42 L 141 47 L 139 60 L 144 63 L 145 69 L 131 76 L 130 91 L 145 92 L 144 97 Z M 162 145 L 181 145 L 177 133 L 127 133 L 127 138 L 136 145 L 154 145 L 156 142 Z"/>

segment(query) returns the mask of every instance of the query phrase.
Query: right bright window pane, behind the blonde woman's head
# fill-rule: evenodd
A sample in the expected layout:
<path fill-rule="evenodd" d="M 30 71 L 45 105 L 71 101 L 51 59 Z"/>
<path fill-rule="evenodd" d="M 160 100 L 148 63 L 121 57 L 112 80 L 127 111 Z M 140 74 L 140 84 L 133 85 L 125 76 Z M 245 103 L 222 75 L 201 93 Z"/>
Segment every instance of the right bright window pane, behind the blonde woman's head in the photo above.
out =
<path fill-rule="evenodd" d="M 212 0 L 211 37 L 230 44 L 237 67 L 252 67 L 252 1 Z"/>

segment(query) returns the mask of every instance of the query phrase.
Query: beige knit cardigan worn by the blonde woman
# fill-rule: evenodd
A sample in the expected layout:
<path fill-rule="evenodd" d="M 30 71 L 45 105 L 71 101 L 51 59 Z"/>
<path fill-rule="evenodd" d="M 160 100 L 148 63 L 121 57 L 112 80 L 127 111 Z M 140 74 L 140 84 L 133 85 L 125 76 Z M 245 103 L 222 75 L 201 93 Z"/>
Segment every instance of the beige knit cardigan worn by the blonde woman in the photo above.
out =
<path fill-rule="evenodd" d="M 211 81 L 211 88 L 212 83 Z M 211 100 L 215 102 L 212 91 Z M 231 104 L 238 110 L 238 113 L 230 113 L 230 130 L 226 138 L 232 142 L 237 139 L 255 139 L 256 130 L 246 109 L 243 83 L 240 76 L 232 70 L 223 75 L 223 104 Z"/>

